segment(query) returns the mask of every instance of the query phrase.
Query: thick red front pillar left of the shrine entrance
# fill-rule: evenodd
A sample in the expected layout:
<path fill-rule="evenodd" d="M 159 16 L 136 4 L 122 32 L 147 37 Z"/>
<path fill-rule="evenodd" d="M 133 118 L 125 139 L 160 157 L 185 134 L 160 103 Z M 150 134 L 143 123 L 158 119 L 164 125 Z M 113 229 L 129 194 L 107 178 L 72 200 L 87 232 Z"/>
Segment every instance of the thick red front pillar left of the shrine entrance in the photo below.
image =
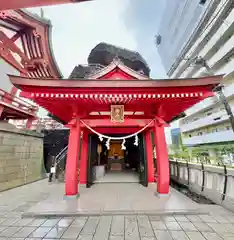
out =
<path fill-rule="evenodd" d="M 65 192 L 67 197 L 77 197 L 78 192 L 78 156 L 80 151 L 80 120 L 72 119 L 67 125 L 70 128 L 66 174 Z"/>

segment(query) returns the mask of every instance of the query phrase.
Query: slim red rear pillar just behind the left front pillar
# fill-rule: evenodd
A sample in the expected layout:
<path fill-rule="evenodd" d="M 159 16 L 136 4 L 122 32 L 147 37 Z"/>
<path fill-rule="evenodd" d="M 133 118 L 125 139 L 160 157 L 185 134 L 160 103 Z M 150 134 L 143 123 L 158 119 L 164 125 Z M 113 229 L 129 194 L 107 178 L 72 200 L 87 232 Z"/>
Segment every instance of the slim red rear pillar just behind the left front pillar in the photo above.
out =
<path fill-rule="evenodd" d="M 85 184 L 87 180 L 87 163 L 88 163 L 88 131 L 83 132 L 82 152 L 80 159 L 80 183 Z"/>

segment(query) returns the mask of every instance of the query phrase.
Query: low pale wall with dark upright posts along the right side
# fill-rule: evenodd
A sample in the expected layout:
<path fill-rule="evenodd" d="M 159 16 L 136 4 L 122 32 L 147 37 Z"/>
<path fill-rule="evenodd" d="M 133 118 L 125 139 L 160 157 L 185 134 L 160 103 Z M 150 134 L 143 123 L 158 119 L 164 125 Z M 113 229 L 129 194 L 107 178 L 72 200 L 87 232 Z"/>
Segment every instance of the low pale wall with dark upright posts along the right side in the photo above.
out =
<path fill-rule="evenodd" d="M 234 169 L 170 161 L 171 179 L 234 211 Z"/>

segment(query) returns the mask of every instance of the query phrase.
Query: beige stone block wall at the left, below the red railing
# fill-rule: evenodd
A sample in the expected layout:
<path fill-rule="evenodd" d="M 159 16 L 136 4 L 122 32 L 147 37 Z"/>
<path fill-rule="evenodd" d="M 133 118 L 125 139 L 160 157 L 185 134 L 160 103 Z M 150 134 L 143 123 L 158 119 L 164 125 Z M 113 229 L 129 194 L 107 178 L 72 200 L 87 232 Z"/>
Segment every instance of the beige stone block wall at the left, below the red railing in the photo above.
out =
<path fill-rule="evenodd" d="M 43 136 L 0 123 L 0 191 L 45 176 Z"/>

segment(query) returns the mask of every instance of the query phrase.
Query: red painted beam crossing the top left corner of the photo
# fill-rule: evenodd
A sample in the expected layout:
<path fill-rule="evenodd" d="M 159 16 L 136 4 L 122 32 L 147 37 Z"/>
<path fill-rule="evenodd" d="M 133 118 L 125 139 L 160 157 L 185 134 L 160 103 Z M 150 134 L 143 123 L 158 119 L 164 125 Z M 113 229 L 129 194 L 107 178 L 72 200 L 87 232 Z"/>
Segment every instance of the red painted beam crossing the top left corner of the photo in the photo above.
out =
<path fill-rule="evenodd" d="M 29 8 L 29 7 L 40 7 L 49 6 L 55 4 L 65 4 L 74 2 L 85 2 L 90 0 L 10 0 L 10 1 L 0 1 L 0 11 L 8 9 L 19 9 L 19 8 Z"/>

